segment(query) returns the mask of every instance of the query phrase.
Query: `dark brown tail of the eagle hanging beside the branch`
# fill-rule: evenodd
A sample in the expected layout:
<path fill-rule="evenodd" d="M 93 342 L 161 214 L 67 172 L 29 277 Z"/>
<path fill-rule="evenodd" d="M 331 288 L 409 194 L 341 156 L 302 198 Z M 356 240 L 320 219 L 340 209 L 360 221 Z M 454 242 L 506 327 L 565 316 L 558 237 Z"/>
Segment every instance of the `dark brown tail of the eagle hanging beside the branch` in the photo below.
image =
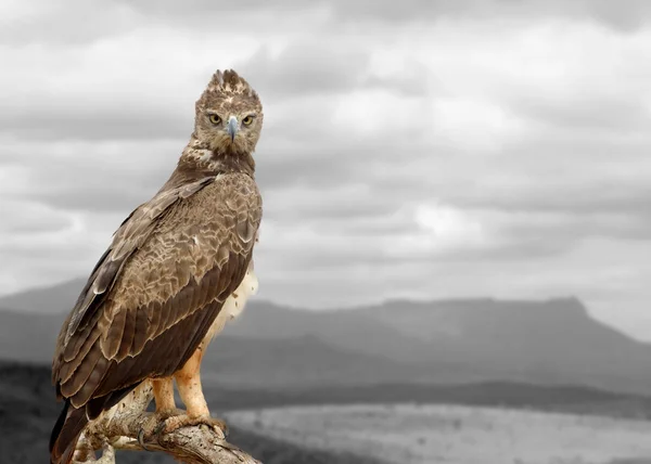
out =
<path fill-rule="evenodd" d="M 66 400 L 50 435 L 50 464 L 69 464 L 77 440 L 88 424 L 86 409 L 76 409 Z"/>

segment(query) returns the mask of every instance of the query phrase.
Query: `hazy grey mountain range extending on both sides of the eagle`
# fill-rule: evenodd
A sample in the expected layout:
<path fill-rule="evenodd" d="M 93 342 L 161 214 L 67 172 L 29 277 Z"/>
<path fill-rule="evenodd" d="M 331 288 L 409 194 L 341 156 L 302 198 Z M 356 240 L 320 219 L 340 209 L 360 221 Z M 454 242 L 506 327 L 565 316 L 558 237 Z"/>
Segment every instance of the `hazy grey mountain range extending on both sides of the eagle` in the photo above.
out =
<path fill-rule="evenodd" d="M 49 363 L 84 282 L 0 298 L 0 358 Z M 209 347 L 204 382 L 227 388 L 489 381 L 651 394 L 651 345 L 576 298 L 492 298 L 310 311 L 252 300 Z"/>

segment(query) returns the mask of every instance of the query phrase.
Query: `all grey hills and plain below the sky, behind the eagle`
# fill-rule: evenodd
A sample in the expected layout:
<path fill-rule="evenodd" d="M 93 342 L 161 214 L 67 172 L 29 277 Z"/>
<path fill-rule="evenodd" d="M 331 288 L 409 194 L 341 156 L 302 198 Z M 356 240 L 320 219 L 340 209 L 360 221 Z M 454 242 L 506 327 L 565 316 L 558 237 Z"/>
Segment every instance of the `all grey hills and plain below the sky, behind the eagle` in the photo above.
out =
<path fill-rule="evenodd" d="M 0 298 L 17 308 L 0 311 L 8 462 L 46 452 L 59 408 L 48 362 L 80 285 Z M 321 312 L 258 300 L 208 353 L 208 401 L 265 462 L 650 462 L 651 344 L 576 298 Z"/>

